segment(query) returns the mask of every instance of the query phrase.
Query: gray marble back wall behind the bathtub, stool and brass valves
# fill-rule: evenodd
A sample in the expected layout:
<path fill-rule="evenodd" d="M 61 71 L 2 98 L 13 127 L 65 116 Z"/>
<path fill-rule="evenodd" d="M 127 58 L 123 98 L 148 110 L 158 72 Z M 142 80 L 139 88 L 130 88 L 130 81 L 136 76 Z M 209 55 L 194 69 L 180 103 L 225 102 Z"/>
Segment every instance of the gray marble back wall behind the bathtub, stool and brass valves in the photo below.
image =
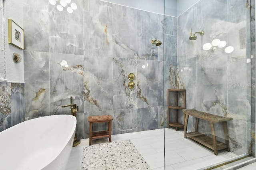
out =
<path fill-rule="evenodd" d="M 112 115 L 113 134 L 163 128 L 163 87 L 169 77 L 164 61 L 169 69 L 174 63 L 174 73 L 177 18 L 165 17 L 170 21 L 165 58 L 163 15 L 98 0 L 74 2 L 78 9 L 68 14 L 47 0 L 24 1 L 24 29 L 31 30 L 25 35 L 25 118 L 70 114 L 61 106 L 72 96 L 79 107 L 78 138 L 88 138 L 92 115 Z M 153 45 L 153 39 L 163 44 Z M 60 65 L 62 60 L 67 68 Z M 128 88 L 129 73 L 136 75 L 134 89 Z"/>

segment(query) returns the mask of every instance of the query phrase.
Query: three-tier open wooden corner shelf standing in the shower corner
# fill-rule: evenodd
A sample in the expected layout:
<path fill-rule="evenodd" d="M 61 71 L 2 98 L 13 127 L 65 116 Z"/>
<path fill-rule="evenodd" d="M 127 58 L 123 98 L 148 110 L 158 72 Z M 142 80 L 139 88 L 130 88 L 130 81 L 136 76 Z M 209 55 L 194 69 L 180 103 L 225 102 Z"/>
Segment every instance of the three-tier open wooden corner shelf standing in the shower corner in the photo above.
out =
<path fill-rule="evenodd" d="M 180 99 L 182 99 L 182 103 L 179 103 Z M 185 89 L 168 89 L 167 104 L 168 104 L 168 108 L 167 108 L 168 109 L 168 113 L 167 113 L 168 128 L 175 127 L 176 130 L 178 130 L 178 128 L 184 128 L 184 125 L 182 123 L 179 123 L 178 114 L 179 114 L 179 110 L 186 109 L 186 90 Z M 175 120 L 170 120 L 170 117 L 171 117 L 170 114 L 175 114 Z M 185 117 L 184 117 L 184 122 L 185 122 Z"/>

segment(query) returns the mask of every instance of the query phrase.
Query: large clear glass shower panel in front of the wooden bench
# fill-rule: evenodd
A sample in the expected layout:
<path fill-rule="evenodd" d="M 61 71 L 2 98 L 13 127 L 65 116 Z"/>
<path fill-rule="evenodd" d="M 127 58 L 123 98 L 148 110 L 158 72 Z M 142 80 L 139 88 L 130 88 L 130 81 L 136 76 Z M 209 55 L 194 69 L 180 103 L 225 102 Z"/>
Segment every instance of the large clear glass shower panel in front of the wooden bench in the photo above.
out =
<path fill-rule="evenodd" d="M 255 62 L 250 52 L 250 2 L 177 1 L 176 16 L 170 16 L 167 4 L 170 1 L 165 0 L 164 115 L 170 114 L 164 128 L 166 168 L 197 169 L 250 154 L 251 116 L 255 115 L 255 109 L 251 111 Z M 172 107 L 176 96 L 167 99 L 168 89 L 186 89 L 186 97 L 178 93 L 177 101 L 185 98 L 186 109 L 194 109 L 188 110 L 188 119 L 183 108 L 176 114 Z M 186 124 L 186 133 L 184 128 L 175 130 L 173 122 Z M 218 152 L 213 151 L 216 148 Z"/>

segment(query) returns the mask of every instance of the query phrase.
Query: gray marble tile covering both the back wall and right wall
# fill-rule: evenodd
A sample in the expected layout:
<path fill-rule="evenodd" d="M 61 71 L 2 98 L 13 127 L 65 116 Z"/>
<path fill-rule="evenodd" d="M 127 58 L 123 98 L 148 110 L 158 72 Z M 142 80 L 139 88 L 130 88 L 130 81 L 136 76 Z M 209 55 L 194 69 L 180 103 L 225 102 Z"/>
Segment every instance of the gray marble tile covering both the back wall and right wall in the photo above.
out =
<path fill-rule="evenodd" d="M 249 38 L 241 49 L 244 39 L 234 36 L 244 28 L 250 36 L 246 1 L 204 0 L 178 18 L 98 0 L 74 2 L 78 9 L 68 14 L 58 12 L 48 0 L 24 0 L 25 119 L 70 114 L 61 106 L 73 96 L 79 106 L 78 138 L 88 138 L 91 115 L 112 115 L 113 134 L 162 128 L 167 122 L 167 89 L 184 88 L 188 109 L 233 117 L 228 125 L 231 150 L 247 152 L 250 142 L 240 133 L 246 129 L 243 137 L 250 136 L 250 88 L 232 87 L 251 83 L 250 63 L 234 58 L 249 57 Z M 200 30 L 204 36 L 188 39 Z M 202 50 L 216 37 L 235 51 Z M 152 45 L 153 39 L 162 45 Z M 62 60 L 67 68 L 60 65 Z M 128 88 L 129 73 L 136 75 L 134 89 Z M 189 125 L 191 130 L 194 120 Z M 200 130 L 208 132 L 209 127 L 202 122 Z"/>

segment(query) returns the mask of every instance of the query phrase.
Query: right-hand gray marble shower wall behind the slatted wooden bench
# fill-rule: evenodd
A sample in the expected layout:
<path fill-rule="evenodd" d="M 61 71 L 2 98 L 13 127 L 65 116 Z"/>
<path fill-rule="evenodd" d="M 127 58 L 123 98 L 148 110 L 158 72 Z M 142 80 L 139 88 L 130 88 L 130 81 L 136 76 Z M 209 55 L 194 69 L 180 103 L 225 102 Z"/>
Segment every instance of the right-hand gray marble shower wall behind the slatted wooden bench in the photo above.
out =
<path fill-rule="evenodd" d="M 248 60 L 251 51 L 248 3 L 201 0 L 178 17 L 177 68 L 187 91 L 187 108 L 232 117 L 228 130 L 230 150 L 235 154 L 248 153 L 252 147 L 251 65 L 255 67 L 255 62 Z M 191 32 L 200 30 L 204 30 L 203 36 L 198 34 L 197 40 L 188 40 Z M 227 54 L 218 47 L 216 51 L 204 51 L 204 43 L 215 38 L 225 40 L 234 51 Z M 185 72 L 184 65 L 194 71 Z M 194 129 L 194 119 L 190 119 L 188 126 L 188 130 Z M 202 133 L 210 132 L 205 121 L 200 121 L 198 128 Z M 216 124 L 215 128 L 221 132 L 222 126 Z M 223 134 L 217 135 L 218 140 L 224 141 Z"/>

